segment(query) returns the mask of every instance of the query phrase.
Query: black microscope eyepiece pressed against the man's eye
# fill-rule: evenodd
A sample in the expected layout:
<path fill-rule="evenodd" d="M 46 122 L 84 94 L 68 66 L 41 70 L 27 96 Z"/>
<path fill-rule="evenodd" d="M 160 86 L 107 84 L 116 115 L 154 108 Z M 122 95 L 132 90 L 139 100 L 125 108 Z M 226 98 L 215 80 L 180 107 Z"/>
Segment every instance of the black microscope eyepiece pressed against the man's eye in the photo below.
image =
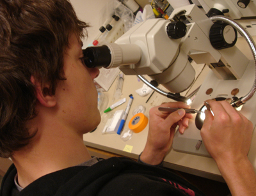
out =
<path fill-rule="evenodd" d="M 83 50 L 84 63 L 88 68 L 107 67 L 111 63 L 111 52 L 106 45 L 88 47 Z"/>

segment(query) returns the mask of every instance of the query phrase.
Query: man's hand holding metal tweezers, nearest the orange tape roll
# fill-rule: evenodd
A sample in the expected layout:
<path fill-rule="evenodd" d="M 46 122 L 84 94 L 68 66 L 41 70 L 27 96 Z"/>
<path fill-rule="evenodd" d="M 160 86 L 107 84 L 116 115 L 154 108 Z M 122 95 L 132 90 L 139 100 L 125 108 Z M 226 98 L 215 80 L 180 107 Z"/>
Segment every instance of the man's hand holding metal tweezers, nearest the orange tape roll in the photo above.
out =
<path fill-rule="evenodd" d="M 159 107 L 180 108 L 171 114 L 161 112 Z M 140 156 L 141 161 L 150 165 L 158 165 L 172 146 L 172 141 L 176 127 L 179 125 L 179 132 L 184 133 L 188 127 L 188 120 L 193 116 L 186 114 L 184 109 L 189 109 L 189 105 L 183 102 L 163 103 L 159 107 L 150 109 L 148 139 Z M 182 109 L 184 108 L 184 109 Z"/>

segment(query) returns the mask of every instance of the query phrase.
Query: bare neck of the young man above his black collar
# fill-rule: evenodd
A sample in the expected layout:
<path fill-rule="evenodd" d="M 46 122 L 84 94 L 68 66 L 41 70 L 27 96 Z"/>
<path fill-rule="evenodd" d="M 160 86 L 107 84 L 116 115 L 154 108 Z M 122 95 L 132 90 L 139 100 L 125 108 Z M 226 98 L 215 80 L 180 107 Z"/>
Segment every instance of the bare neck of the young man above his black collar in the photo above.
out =
<path fill-rule="evenodd" d="M 38 130 L 33 142 L 26 149 L 15 151 L 12 156 L 18 171 L 19 185 L 23 188 L 39 177 L 76 166 L 91 158 L 83 143 L 83 134 L 52 124 L 47 124 L 47 127 L 51 129 Z"/>

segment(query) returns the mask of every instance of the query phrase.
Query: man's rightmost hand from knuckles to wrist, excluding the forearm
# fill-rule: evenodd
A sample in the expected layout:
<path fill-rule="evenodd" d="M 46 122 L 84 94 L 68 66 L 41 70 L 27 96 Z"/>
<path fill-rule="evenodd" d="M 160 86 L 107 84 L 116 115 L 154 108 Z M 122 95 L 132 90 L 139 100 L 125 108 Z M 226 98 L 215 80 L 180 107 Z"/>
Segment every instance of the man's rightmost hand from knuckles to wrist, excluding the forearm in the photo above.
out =
<path fill-rule="evenodd" d="M 207 100 L 214 113 L 207 110 L 201 129 L 207 151 L 216 162 L 223 159 L 236 161 L 246 157 L 250 149 L 253 125 L 226 101 Z"/>

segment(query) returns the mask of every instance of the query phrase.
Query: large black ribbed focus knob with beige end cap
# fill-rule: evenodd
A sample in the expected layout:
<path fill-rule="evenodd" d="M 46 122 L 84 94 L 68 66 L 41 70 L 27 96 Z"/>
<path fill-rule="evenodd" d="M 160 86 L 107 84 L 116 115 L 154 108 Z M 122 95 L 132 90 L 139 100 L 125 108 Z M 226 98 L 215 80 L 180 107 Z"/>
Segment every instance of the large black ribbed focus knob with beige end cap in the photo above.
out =
<path fill-rule="evenodd" d="M 214 49 L 226 49 L 236 44 L 237 31 L 224 22 L 215 22 L 210 29 L 209 38 Z"/>

